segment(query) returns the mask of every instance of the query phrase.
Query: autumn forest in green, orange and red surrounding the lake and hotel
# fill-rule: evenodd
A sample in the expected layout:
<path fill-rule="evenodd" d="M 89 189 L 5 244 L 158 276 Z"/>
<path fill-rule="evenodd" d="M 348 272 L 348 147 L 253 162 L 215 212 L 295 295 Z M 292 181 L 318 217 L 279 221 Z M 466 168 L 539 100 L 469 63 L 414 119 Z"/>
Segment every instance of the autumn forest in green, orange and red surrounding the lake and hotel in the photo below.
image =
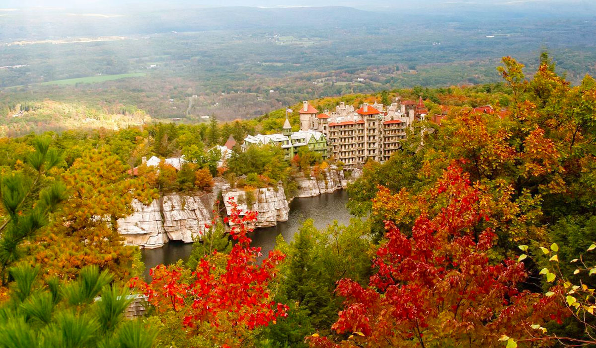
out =
<path fill-rule="evenodd" d="M 530 77 L 511 57 L 498 71 L 499 84 L 399 90 L 446 118 L 415 124 L 389 161 L 367 161 L 347 189 L 348 226 L 307 220 L 262 257 L 248 236 L 256 213 L 233 208 L 215 214 L 190 260 L 154 267 L 149 283 L 116 230 L 132 199 L 210 190 L 213 177 L 290 188 L 294 173 L 333 159 L 251 147 L 216 165 L 213 146 L 278 131 L 284 110 L 2 138 L 0 347 L 596 344 L 596 81 L 570 84 L 548 54 Z M 508 114 L 470 110 L 482 104 Z M 189 162 L 155 170 L 148 155 Z M 125 319 L 138 295 L 147 313 Z"/>

